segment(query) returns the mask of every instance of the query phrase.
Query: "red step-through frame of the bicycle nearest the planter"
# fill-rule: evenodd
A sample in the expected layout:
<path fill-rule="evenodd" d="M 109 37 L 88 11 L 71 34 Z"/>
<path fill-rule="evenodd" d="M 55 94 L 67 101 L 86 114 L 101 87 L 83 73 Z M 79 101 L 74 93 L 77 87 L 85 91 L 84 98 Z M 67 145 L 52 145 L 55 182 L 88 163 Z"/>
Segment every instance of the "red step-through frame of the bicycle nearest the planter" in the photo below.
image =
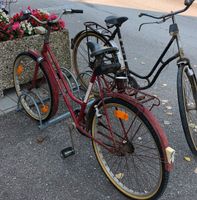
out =
<path fill-rule="evenodd" d="M 52 52 L 52 50 L 50 48 L 50 45 L 49 45 L 49 36 L 50 36 L 50 30 L 48 30 L 48 32 L 45 35 L 45 40 L 44 40 L 43 48 L 42 48 L 42 51 L 41 51 L 41 55 L 43 57 L 43 61 L 42 62 L 44 62 L 44 61 L 47 62 L 47 72 L 51 73 L 52 76 L 55 77 L 55 81 L 57 83 L 58 89 L 61 91 L 61 93 L 63 95 L 64 102 L 65 102 L 65 104 L 66 104 L 66 106 L 67 106 L 67 108 L 68 108 L 68 110 L 69 110 L 69 112 L 71 114 L 71 117 L 72 117 L 72 119 L 74 121 L 74 124 L 75 124 L 76 128 L 79 131 L 81 131 L 83 134 L 85 134 L 87 137 L 89 137 L 92 140 L 94 140 L 95 142 L 97 142 L 99 145 L 101 145 L 104 148 L 106 148 L 107 150 L 113 152 L 113 148 L 110 148 L 107 145 L 105 145 L 104 143 L 102 143 L 101 141 L 93 138 L 92 135 L 89 134 L 85 130 L 86 127 L 84 127 L 84 125 L 85 125 L 84 124 L 85 109 L 87 107 L 88 98 L 90 96 L 91 89 L 92 89 L 93 84 L 96 81 L 96 79 L 98 81 L 98 85 L 99 85 L 99 88 L 100 88 L 101 101 L 102 101 L 102 103 L 104 102 L 104 91 L 102 90 L 101 81 L 100 81 L 99 77 L 96 77 L 96 75 L 94 73 L 92 73 L 92 76 L 91 76 L 91 79 L 90 79 L 90 84 L 89 84 L 88 90 L 87 90 L 87 92 L 85 94 L 84 100 L 82 101 L 82 100 L 76 98 L 73 95 L 72 91 L 70 90 L 69 85 L 68 85 L 68 83 L 66 82 L 66 80 L 65 80 L 65 78 L 63 76 L 63 73 L 61 71 L 60 65 L 59 65 L 58 61 L 56 60 L 56 57 L 55 57 L 55 55 L 53 54 L 53 52 Z M 36 79 L 36 71 L 37 70 L 35 70 L 34 79 Z M 67 93 L 65 93 L 64 90 L 66 90 Z M 72 108 L 71 103 L 70 103 L 67 95 L 74 102 L 76 102 L 77 104 L 80 105 L 81 109 L 80 109 L 80 112 L 79 112 L 78 116 L 76 116 L 75 110 Z M 108 92 L 107 92 L 107 97 L 113 97 L 113 93 L 109 92 L 109 94 L 108 94 Z M 126 97 L 122 97 L 122 95 L 119 95 L 119 98 L 125 99 Z M 93 106 L 94 105 L 95 104 L 93 104 Z M 105 113 L 107 112 L 105 106 L 104 106 L 104 112 Z M 110 126 L 112 126 L 111 123 L 109 123 L 109 119 L 108 119 L 107 116 L 106 116 L 106 119 L 108 121 L 108 124 L 110 124 Z M 113 136 L 114 134 L 112 132 L 111 127 L 109 127 L 109 130 L 110 130 L 111 134 L 109 136 L 106 136 L 106 137 L 108 139 L 112 140 L 113 143 L 114 143 L 114 145 L 116 146 L 116 142 L 117 141 L 115 141 L 115 138 Z M 164 139 L 164 141 L 165 141 L 165 139 Z"/>

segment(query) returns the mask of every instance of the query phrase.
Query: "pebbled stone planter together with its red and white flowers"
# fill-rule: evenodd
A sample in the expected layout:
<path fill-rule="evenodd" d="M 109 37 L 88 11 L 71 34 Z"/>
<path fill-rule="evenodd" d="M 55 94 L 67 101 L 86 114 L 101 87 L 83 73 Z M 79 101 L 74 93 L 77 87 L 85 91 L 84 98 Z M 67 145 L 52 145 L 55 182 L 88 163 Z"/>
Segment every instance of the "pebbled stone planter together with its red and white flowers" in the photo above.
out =
<path fill-rule="evenodd" d="M 55 19 L 55 14 L 49 14 L 39 9 L 28 8 L 32 15 L 41 21 Z M 22 51 L 31 49 L 41 49 L 43 38 L 35 35 L 34 28 L 39 26 L 35 20 L 20 20 L 22 13 L 19 12 L 13 17 L 8 17 L 0 12 L 0 96 L 3 90 L 13 87 L 13 62 L 15 57 Z M 63 20 L 59 20 L 52 27 L 51 46 L 55 52 L 61 66 L 70 68 L 70 47 L 68 30 L 64 29 Z M 62 31 L 59 31 L 62 30 Z"/>

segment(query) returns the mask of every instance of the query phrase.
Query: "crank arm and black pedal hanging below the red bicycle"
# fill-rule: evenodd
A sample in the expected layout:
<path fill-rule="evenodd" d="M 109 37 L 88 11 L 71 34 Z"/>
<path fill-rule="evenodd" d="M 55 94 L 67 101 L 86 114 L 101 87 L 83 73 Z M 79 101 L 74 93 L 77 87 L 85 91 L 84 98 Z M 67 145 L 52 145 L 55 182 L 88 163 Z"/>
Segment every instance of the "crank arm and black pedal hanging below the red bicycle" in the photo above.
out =
<path fill-rule="evenodd" d="M 70 138 L 71 138 L 71 146 L 66 147 L 66 148 L 61 150 L 61 157 L 63 159 L 75 154 L 74 141 L 73 141 L 73 136 L 72 136 L 72 131 L 74 130 L 73 126 L 74 125 L 72 123 L 68 123 L 68 130 L 69 130 Z"/>

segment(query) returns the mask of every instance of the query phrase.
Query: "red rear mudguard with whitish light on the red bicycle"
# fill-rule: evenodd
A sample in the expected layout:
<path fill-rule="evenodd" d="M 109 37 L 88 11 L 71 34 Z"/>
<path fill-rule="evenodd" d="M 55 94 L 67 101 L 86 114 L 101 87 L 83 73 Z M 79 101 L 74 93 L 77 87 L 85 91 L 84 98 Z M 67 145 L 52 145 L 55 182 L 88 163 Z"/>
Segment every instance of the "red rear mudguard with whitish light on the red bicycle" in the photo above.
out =
<path fill-rule="evenodd" d="M 149 120 L 149 122 L 151 123 L 153 129 L 155 130 L 156 134 L 158 135 L 158 138 L 160 140 L 160 143 L 162 145 L 162 151 L 163 151 L 163 155 L 164 155 L 164 162 L 165 164 L 165 168 L 167 171 L 171 171 L 173 168 L 173 159 L 172 161 L 170 161 L 169 159 L 169 152 L 173 151 L 172 154 L 174 156 L 174 150 L 172 148 L 169 147 L 169 143 L 168 143 L 168 139 L 166 137 L 166 134 L 164 133 L 163 129 L 161 128 L 159 122 L 157 121 L 157 119 L 154 117 L 154 115 L 152 114 L 151 111 L 149 111 L 147 108 L 145 108 L 142 104 L 140 104 L 137 100 L 129 97 L 126 94 L 119 94 L 119 93 L 110 93 L 108 94 L 108 97 L 105 98 L 119 98 L 123 101 L 127 101 L 130 104 L 132 104 L 134 107 L 136 107 L 140 112 L 142 112 L 145 117 Z M 102 103 L 102 100 L 100 98 L 96 99 L 93 104 L 91 105 L 88 114 L 87 114 L 87 119 L 89 119 L 88 123 L 87 123 L 87 130 L 90 131 L 91 128 L 91 119 L 93 119 L 94 113 L 95 113 L 95 105 L 99 106 Z"/>

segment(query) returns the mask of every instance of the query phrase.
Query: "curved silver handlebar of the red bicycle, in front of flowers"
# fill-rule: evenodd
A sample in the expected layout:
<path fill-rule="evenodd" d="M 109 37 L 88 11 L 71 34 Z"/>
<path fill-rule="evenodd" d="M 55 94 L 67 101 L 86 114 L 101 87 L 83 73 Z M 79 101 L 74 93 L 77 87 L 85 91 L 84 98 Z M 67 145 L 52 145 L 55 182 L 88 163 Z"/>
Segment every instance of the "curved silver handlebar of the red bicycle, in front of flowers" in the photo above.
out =
<path fill-rule="evenodd" d="M 46 25 L 48 23 L 50 24 L 55 24 L 59 21 L 59 19 L 65 15 L 65 14 L 73 14 L 73 13 L 83 13 L 83 10 L 76 10 L 76 9 L 64 9 L 59 16 L 54 19 L 54 20 L 49 20 L 49 21 L 40 21 L 37 17 L 31 15 L 31 12 L 29 10 L 23 11 L 23 16 L 21 16 L 20 20 L 28 20 L 29 18 L 33 18 L 35 21 L 37 21 L 41 25 Z"/>

